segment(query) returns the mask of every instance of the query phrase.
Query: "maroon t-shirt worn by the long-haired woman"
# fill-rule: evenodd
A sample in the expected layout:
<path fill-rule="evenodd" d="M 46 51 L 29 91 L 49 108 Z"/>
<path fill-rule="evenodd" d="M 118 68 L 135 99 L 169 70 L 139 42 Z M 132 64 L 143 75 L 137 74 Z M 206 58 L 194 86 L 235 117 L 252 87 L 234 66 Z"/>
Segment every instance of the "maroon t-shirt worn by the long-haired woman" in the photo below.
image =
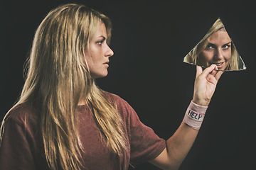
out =
<path fill-rule="evenodd" d="M 129 164 L 137 166 L 161 154 L 166 147 L 165 140 L 141 123 L 137 113 L 126 101 L 117 95 L 108 95 L 117 104 L 124 121 L 129 149 L 123 157 L 112 154 L 102 142 L 88 106 L 78 106 L 82 159 L 87 169 L 128 169 Z M 0 169 L 49 169 L 43 151 L 38 114 L 36 109 L 23 105 L 9 113 L 0 147 Z"/>

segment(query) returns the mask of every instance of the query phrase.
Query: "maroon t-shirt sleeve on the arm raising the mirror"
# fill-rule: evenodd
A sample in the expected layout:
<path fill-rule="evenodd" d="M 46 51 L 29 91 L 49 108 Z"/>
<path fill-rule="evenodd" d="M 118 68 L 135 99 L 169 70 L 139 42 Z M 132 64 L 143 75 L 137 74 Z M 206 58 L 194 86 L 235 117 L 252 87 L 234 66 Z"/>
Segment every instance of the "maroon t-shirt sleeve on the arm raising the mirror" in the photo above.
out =
<path fill-rule="evenodd" d="M 114 96 L 117 97 L 117 96 Z M 166 148 L 166 141 L 144 125 L 129 103 L 117 97 L 117 107 L 124 116 L 130 143 L 130 165 L 133 167 L 148 162 L 161 154 Z"/>

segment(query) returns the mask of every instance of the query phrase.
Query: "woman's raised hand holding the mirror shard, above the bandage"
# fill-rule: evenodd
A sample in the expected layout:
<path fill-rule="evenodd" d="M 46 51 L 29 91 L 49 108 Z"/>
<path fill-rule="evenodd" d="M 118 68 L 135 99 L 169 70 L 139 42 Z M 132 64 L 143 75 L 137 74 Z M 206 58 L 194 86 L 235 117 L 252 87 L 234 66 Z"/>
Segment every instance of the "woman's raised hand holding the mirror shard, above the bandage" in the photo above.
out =
<path fill-rule="evenodd" d="M 208 106 L 221 74 L 223 74 L 223 71 L 218 71 L 218 67 L 215 64 L 212 64 L 204 71 L 202 67 L 196 66 L 196 80 L 192 101 L 201 106 Z"/>

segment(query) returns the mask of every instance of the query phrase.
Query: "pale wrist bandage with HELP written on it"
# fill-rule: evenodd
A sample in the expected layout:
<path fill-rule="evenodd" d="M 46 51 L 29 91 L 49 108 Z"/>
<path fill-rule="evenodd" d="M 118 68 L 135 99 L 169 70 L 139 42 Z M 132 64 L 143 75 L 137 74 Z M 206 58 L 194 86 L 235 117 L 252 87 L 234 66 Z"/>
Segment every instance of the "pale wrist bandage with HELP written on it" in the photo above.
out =
<path fill-rule="evenodd" d="M 200 106 L 191 101 L 183 118 L 183 123 L 186 123 L 195 130 L 199 130 L 203 123 L 203 118 L 206 115 L 207 108 L 208 106 Z"/>

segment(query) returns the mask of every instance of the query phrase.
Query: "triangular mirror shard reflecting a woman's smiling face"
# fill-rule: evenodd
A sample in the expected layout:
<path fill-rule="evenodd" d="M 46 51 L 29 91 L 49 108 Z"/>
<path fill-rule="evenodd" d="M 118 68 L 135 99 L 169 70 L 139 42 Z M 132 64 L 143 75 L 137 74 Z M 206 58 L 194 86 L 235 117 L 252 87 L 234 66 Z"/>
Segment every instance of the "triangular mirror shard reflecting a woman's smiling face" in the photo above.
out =
<path fill-rule="evenodd" d="M 218 70 L 223 71 L 246 69 L 220 18 L 213 23 L 196 47 L 188 52 L 183 62 L 202 67 L 216 64 Z"/>

